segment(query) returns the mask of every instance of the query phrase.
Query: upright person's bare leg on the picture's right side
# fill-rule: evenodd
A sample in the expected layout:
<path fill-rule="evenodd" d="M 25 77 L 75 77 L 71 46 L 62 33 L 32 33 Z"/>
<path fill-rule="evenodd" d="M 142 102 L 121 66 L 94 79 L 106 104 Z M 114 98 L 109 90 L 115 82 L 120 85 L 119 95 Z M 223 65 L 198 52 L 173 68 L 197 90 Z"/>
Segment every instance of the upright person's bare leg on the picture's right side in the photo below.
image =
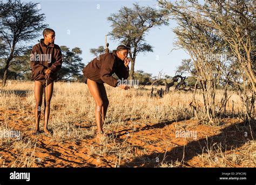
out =
<path fill-rule="evenodd" d="M 48 130 L 48 122 L 49 122 L 49 116 L 50 116 L 50 103 L 51 103 L 51 97 L 53 93 L 53 82 L 49 84 L 47 87 L 44 87 L 44 132 L 46 134 L 50 134 L 50 131 Z"/>

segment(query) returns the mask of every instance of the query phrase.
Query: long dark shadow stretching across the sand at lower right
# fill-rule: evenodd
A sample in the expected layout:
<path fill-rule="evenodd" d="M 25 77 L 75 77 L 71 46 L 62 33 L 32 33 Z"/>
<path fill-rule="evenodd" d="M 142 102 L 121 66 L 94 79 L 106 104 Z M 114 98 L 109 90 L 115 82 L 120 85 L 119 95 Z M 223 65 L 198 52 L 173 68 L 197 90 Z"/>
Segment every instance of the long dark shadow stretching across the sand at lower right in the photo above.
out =
<path fill-rule="evenodd" d="M 223 128 L 221 133 L 218 135 L 213 135 L 208 138 L 188 142 L 187 145 L 174 147 L 166 153 L 163 152 L 152 153 L 150 155 L 142 155 L 136 157 L 131 162 L 126 162 L 122 167 L 157 167 L 159 166 L 159 162 L 162 161 L 164 161 L 164 163 L 179 161 L 184 162 L 185 166 L 190 166 L 187 163 L 189 160 L 191 160 L 194 156 L 206 153 L 207 150 L 211 150 L 212 152 L 221 150 L 221 152 L 225 152 L 232 150 L 235 147 L 241 147 L 247 141 L 256 138 L 255 131 L 255 123 L 251 123 L 250 130 L 250 127 L 246 126 L 244 122 L 239 122 L 237 124 L 232 124 Z M 221 143 L 221 147 L 213 147 L 214 143 Z"/>

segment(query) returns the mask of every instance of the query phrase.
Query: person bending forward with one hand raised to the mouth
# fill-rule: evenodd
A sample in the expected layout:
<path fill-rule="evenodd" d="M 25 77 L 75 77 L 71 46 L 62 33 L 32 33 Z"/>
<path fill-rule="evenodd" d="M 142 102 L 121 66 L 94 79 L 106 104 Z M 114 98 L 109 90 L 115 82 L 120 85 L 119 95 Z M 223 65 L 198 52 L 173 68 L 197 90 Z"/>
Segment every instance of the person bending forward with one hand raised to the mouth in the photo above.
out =
<path fill-rule="evenodd" d="M 113 73 L 116 73 L 119 79 L 127 79 L 129 76 L 129 63 L 130 58 L 127 58 L 129 47 L 125 45 L 119 45 L 117 50 L 111 53 L 105 53 L 99 57 L 93 59 L 83 69 L 85 77 L 85 83 L 87 84 L 89 91 L 95 100 L 95 118 L 97 125 L 96 140 L 100 140 L 103 137 L 103 122 L 106 116 L 107 107 L 109 106 L 109 100 L 107 99 L 104 83 L 117 87 L 119 85 L 118 80 L 112 77 Z M 129 89 L 129 86 L 119 85 L 124 90 Z"/>

